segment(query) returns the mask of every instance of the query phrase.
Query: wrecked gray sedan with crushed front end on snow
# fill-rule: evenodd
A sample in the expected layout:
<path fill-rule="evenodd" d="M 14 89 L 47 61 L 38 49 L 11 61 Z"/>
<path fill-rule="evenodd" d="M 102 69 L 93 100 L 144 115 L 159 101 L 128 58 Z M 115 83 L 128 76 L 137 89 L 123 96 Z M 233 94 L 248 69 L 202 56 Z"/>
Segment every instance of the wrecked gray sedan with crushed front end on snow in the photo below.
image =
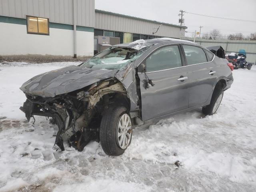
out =
<path fill-rule="evenodd" d="M 226 59 L 186 40 L 159 38 L 112 46 L 78 66 L 33 77 L 21 86 L 28 121 L 52 117 L 55 144 L 79 151 L 90 140 L 108 155 L 124 153 L 132 128 L 202 107 L 214 114 L 233 82 Z"/>

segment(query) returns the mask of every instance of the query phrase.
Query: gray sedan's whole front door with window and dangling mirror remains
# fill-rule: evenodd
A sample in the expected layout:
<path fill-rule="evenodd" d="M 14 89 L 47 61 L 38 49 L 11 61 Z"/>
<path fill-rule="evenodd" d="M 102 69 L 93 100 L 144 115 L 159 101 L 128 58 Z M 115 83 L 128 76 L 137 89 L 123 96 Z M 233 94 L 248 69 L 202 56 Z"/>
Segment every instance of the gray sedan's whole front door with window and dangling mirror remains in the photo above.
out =
<path fill-rule="evenodd" d="M 144 72 L 138 72 L 142 120 L 188 108 L 187 76 L 180 53 L 178 44 L 161 46 L 142 61 L 141 65 L 146 66 Z"/>

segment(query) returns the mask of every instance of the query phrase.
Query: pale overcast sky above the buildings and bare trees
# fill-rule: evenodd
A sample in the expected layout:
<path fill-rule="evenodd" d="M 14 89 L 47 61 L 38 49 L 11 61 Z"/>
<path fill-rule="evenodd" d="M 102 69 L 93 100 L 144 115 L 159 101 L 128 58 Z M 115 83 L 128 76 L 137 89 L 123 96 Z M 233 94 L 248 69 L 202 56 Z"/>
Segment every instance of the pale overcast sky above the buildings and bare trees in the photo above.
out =
<path fill-rule="evenodd" d="M 256 0 L 95 0 L 95 8 L 171 24 L 178 24 L 179 10 L 224 18 L 256 20 Z M 186 31 L 201 33 L 216 28 L 223 35 L 256 32 L 255 22 L 239 22 L 185 13 Z M 191 33 L 186 33 L 190 36 Z"/>

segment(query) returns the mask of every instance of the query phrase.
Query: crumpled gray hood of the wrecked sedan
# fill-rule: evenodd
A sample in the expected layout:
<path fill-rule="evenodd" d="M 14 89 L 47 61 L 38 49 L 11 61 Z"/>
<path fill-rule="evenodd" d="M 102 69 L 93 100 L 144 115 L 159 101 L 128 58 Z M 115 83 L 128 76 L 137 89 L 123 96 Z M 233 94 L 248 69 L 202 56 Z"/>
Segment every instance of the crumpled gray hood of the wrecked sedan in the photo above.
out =
<path fill-rule="evenodd" d="M 114 77 L 116 72 L 117 70 L 68 66 L 37 75 L 22 84 L 20 89 L 30 95 L 54 97 Z"/>

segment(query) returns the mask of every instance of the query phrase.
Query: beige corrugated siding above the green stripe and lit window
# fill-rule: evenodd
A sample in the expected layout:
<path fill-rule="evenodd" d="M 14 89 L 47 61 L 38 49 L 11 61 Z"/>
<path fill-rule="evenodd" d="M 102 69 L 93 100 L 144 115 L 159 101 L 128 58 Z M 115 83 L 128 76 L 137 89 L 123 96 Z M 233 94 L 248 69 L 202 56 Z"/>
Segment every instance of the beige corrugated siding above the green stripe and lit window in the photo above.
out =
<path fill-rule="evenodd" d="M 94 27 L 94 0 L 77 0 L 77 23 Z M 51 22 L 73 24 L 73 0 L 0 0 L 0 15 L 26 18 L 26 15 L 50 18 Z"/>

